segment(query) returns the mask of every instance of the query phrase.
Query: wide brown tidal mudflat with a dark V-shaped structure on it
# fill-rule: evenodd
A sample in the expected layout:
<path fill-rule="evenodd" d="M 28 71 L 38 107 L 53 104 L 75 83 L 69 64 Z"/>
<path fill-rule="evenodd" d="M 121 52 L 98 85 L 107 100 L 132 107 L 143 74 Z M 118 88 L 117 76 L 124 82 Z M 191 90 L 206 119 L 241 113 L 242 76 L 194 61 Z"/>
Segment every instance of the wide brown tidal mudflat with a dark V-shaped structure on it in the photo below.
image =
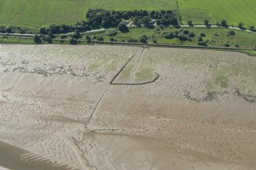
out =
<path fill-rule="evenodd" d="M 3 45 L 0 127 L 11 169 L 255 169 L 256 58 Z"/>

